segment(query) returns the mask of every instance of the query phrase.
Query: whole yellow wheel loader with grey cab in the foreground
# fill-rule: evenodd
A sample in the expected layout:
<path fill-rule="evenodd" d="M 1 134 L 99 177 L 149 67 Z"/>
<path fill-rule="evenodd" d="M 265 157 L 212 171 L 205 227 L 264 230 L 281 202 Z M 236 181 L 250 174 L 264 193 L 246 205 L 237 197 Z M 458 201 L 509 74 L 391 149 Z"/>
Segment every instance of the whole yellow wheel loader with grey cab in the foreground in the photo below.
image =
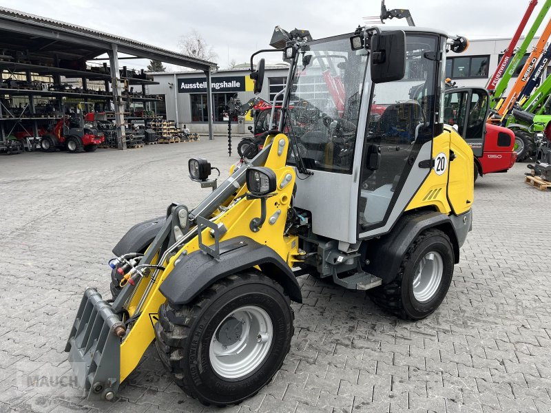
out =
<path fill-rule="evenodd" d="M 290 63 L 278 131 L 221 184 L 189 160 L 213 191 L 124 235 L 112 300 L 85 290 L 65 351 L 89 399 L 114 399 L 152 342 L 200 402 L 253 396 L 289 352 L 300 275 L 367 290 L 404 319 L 444 300 L 472 222 L 472 151 L 442 107 L 446 54 L 466 40 L 276 28 L 271 45 Z"/>

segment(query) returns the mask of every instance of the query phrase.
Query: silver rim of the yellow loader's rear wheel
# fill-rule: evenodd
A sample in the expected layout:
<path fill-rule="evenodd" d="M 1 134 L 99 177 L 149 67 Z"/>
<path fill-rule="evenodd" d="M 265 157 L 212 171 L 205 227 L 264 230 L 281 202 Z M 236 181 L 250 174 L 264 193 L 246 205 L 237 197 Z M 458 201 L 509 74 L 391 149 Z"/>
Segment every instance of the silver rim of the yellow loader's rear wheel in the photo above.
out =
<path fill-rule="evenodd" d="M 430 251 L 417 267 L 413 276 L 413 295 L 420 303 L 425 303 L 434 297 L 444 273 L 444 260 L 440 253 Z"/>

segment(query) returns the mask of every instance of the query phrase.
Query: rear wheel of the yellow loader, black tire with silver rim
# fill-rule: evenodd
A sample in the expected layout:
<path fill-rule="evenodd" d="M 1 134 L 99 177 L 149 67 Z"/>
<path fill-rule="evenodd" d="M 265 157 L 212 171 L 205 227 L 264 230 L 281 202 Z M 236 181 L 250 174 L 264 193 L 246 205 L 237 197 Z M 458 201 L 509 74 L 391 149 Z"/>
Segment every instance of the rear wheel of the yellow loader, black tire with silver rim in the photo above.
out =
<path fill-rule="evenodd" d="M 404 319 L 423 319 L 444 301 L 453 276 L 453 264 L 453 247 L 448 235 L 428 229 L 406 251 L 397 277 L 371 290 L 371 299 Z"/>

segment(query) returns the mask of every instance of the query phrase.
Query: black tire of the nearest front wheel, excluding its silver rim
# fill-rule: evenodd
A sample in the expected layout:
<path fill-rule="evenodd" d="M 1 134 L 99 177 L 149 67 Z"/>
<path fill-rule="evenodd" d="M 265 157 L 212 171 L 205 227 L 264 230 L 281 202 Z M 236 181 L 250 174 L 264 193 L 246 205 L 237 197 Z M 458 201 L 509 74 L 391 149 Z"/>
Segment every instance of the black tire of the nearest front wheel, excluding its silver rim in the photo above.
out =
<path fill-rule="evenodd" d="M 243 306 L 262 308 L 269 315 L 273 339 L 254 370 L 243 377 L 225 379 L 211 363 L 211 340 L 215 334 L 220 339 L 224 325 L 217 332 L 218 326 Z M 163 304 L 158 316 L 155 346 L 160 359 L 174 382 L 205 405 L 225 406 L 255 395 L 282 366 L 294 334 L 289 296 L 280 284 L 260 273 L 240 273 L 221 279 L 187 305 Z"/>

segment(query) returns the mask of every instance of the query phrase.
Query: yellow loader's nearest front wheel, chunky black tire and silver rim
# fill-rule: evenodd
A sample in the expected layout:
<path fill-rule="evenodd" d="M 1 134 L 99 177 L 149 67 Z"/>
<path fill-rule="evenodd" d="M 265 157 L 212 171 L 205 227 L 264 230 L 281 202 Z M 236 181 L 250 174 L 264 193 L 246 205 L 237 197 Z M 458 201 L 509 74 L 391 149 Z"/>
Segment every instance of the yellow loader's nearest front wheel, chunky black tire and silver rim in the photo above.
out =
<path fill-rule="evenodd" d="M 160 359 L 205 405 L 256 394 L 280 369 L 294 332 L 289 296 L 260 273 L 231 275 L 187 305 L 163 304 L 158 315 Z"/>

